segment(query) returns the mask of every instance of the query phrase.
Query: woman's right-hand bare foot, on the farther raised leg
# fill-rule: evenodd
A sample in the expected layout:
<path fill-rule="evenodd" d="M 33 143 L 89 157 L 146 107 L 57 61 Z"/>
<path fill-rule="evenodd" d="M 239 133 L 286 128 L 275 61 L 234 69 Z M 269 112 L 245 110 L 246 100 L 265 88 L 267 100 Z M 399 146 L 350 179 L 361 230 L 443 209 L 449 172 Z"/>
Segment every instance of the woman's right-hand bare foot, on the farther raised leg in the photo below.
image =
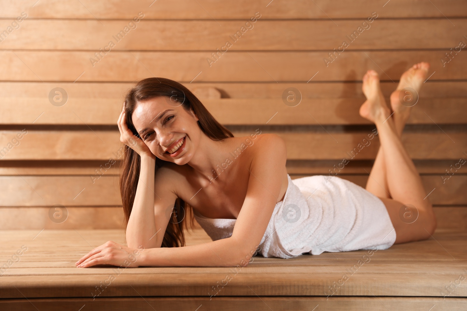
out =
<path fill-rule="evenodd" d="M 405 122 L 410 117 L 410 108 L 418 100 L 418 94 L 430 69 L 427 62 L 419 62 L 405 71 L 397 85 L 397 89 L 390 97 L 391 108 L 394 111 L 394 122 L 396 127 L 401 127 L 402 132 Z M 399 126 L 397 126 L 399 124 Z"/>

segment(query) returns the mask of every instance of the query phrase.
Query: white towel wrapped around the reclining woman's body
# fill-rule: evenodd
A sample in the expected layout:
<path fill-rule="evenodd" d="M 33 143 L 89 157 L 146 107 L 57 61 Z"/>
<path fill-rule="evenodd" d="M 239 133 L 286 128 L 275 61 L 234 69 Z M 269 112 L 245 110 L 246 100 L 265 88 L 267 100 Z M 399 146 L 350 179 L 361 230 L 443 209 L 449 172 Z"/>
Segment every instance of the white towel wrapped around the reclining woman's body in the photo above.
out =
<path fill-rule="evenodd" d="M 276 204 L 259 245 L 262 256 L 388 249 L 396 241 L 384 203 L 366 189 L 335 176 L 288 179 L 284 199 Z M 212 240 L 232 235 L 235 219 L 194 214 Z"/>

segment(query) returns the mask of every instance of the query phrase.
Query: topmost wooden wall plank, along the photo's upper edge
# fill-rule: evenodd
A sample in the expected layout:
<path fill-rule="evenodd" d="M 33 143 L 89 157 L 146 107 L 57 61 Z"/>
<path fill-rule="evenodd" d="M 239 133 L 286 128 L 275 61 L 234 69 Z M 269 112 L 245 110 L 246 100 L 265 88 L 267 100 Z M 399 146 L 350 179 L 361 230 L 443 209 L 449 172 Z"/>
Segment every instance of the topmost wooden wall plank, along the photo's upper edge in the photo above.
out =
<path fill-rule="evenodd" d="M 71 18 L 71 19 L 132 19 L 142 11 L 146 19 L 249 19 L 255 12 L 261 12 L 268 19 L 366 19 L 376 11 L 384 18 L 399 17 L 465 17 L 467 9 L 462 0 L 431 0 L 427 3 L 417 0 L 391 0 L 387 5 L 371 0 L 358 0 L 349 3 L 345 0 L 329 3 L 325 0 L 287 1 L 275 0 L 274 5 L 255 0 L 228 0 L 219 3 L 215 0 L 179 0 L 177 5 L 170 1 L 110 0 L 105 2 L 80 0 L 81 3 L 63 3 L 60 0 L 0 1 L 3 8 L 0 17 L 16 18 L 22 11 L 28 18 Z M 34 5 L 33 7 L 31 7 Z M 383 7 L 384 5 L 384 7 Z M 183 9 L 181 9 L 183 8 Z M 104 24 L 106 21 L 102 21 Z M 446 20 L 446 22 L 449 22 Z M 454 24 L 455 22 L 452 21 Z M 220 21 L 219 21 L 220 23 Z M 223 25 L 220 23 L 220 25 Z"/>

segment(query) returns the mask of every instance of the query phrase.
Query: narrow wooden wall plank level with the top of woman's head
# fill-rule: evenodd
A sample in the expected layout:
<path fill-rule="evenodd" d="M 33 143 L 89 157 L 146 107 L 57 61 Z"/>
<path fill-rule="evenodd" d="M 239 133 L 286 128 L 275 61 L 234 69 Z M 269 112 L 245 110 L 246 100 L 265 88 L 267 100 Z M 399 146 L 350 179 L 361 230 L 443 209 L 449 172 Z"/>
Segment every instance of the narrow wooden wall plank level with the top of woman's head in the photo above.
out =
<path fill-rule="evenodd" d="M 401 67 L 397 73 L 399 76 L 405 69 L 410 66 Z M 354 80 L 361 77 L 352 76 Z M 397 78 L 398 79 L 398 78 Z M 79 80 L 78 80 L 79 81 Z M 398 80 L 394 80 L 398 82 Z M 300 91 L 303 98 L 359 98 L 364 100 L 365 97 L 361 91 L 361 82 L 346 82 L 346 83 L 182 83 L 185 87 L 196 93 L 197 89 L 219 90 L 222 98 L 282 98 L 284 90 L 294 87 Z M 0 82 L 0 98 L 15 97 L 18 100 L 26 100 L 30 98 L 49 98 L 49 93 L 56 87 L 63 88 L 68 95 L 69 100 L 97 98 L 102 100 L 113 100 L 114 102 L 123 103 L 125 93 L 132 86 L 131 83 L 42 83 L 42 82 Z M 381 83 L 381 89 L 386 97 L 396 89 L 396 84 L 391 81 Z M 199 98 L 203 94 L 196 94 Z M 430 81 L 428 80 L 419 94 L 420 98 L 430 99 L 436 97 L 439 99 L 452 97 L 467 97 L 467 82 L 462 81 Z M 3 99 L 0 99 L 0 103 Z M 38 120 L 39 121 L 39 120 Z"/>

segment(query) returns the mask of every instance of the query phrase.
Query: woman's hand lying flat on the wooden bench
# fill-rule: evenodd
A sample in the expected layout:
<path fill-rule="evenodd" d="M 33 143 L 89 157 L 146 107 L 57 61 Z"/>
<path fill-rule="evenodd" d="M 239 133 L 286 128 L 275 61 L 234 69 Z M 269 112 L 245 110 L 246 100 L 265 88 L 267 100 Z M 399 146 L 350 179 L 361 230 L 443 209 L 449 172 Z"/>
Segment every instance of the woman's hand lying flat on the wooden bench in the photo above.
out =
<path fill-rule="evenodd" d="M 106 263 L 122 268 L 136 268 L 139 267 L 138 256 L 143 250 L 142 247 L 140 249 L 131 249 L 108 241 L 81 257 L 75 265 L 78 268 L 87 268 Z"/>

